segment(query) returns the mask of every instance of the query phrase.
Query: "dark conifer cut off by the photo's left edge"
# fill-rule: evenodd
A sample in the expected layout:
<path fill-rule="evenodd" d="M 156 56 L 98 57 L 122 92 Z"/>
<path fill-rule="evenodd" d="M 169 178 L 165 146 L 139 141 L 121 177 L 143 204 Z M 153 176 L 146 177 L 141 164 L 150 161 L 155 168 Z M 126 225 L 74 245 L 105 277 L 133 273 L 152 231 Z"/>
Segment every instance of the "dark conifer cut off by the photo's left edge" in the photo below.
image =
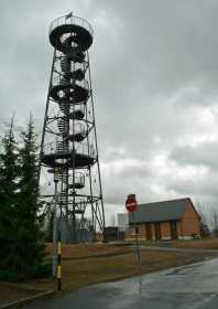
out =
<path fill-rule="evenodd" d="M 0 275 L 15 269 L 14 259 L 18 231 L 18 153 L 13 134 L 13 118 L 10 129 L 1 140 L 0 151 Z M 3 273 L 4 271 L 4 273 Z M 12 271 L 12 270 L 11 270 Z"/>

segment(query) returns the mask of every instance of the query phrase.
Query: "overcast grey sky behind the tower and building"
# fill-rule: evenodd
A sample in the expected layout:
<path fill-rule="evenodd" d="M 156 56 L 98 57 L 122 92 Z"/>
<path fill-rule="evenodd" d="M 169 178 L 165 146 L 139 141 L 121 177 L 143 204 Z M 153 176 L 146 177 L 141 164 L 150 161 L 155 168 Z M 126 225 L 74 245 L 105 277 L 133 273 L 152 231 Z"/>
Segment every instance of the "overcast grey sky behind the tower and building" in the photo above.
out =
<path fill-rule="evenodd" d="M 92 88 L 107 217 L 139 202 L 218 203 L 217 0 L 1 0 L 0 120 L 44 116 L 47 32 L 74 11 L 94 26 Z"/>

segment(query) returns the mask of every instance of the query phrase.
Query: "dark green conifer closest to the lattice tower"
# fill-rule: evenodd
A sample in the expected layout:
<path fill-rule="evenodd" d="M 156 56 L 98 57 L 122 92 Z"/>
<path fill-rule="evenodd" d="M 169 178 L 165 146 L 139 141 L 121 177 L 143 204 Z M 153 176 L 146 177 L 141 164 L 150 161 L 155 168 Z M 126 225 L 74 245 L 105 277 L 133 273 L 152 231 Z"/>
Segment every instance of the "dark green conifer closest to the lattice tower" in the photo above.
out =
<path fill-rule="evenodd" d="M 34 275 L 43 264 L 43 234 L 37 220 L 40 205 L 36 160 L 36 136 L 32 117 L 22 132 L 20 149 L 19 219 L 17 258 L 24 276 Z"/>

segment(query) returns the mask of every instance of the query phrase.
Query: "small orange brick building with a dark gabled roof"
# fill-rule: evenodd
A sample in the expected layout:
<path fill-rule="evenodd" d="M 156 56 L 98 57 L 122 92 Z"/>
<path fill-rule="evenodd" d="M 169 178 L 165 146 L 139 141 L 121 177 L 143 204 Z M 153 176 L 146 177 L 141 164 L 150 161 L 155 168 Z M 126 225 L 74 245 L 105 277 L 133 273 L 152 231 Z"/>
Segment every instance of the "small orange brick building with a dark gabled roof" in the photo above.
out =
<path fill-rule="evenodd" d="M 129 214 L 129 228 L 126 239 L 132 238 L 133 225 L 138 227 L 140 238 L 190 239 L 200 235 L 200 216 L 189 198 L 164 202 L 140 204 L 134 217 Z"/>

